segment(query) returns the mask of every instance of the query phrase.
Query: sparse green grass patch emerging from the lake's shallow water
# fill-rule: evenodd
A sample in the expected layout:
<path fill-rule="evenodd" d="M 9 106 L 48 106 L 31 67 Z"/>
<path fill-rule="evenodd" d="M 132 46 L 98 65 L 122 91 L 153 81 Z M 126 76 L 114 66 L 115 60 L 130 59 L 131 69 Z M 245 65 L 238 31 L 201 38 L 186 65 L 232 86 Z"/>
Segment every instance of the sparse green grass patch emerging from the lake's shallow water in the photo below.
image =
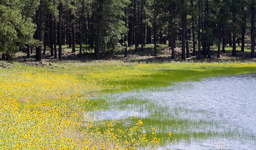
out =
<path fill-rule="evenodd" d="M 117 109 L 126 113 L 131 112 L 143 112 L 136 118 L 136 120 L 143 120 L 145 126 L 144 132 L 149 135 L 154 135 L 152 128 L 155 128 L 157 136 L 161 139 L 159 143 L 161 145 L 166 144 L 168 139 L 172 143 L 191 141 L 204 141 L 207 139 L 243 139 L 245 141 L 254 141 L 255 138 L 251 138 L 253 133 L 244 132 L 244 127 L 226 126 L 229 121 L 223 117 L 219 112 L 213 110 L 203 109 L 188 109 L 182 106 L 166 107 L 163 104 L 153 102 L 152 100 L 140 99 L 141 96 L 128 96 L 116 97 L 112 100 L 108 99 L 111 107 L 108 109 Z M 109 115 L 109 117 L 113 117 Z M 128 127 L 130 124 L 129 118 L 123 117 L 120 119 L 122 128 Z M 167 132 L 172 132 L 172 137 Z"/>

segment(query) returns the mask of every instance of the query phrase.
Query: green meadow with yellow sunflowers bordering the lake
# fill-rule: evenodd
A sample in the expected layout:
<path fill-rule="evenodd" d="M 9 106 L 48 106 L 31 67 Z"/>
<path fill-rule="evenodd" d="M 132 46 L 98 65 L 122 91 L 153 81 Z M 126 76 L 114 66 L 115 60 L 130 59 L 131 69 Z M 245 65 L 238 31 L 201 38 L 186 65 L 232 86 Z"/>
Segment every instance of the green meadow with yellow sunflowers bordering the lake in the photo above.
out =
<path fill-rule="evenodd" d="M 94 113 L 107 113 L 114 106 L 129 105 L 131 101 L 138 106 L 147 101 L 135 97 L 111 104 L 92 97 L 155 90 L 175 81 L 256 72 L 255 62 L 90 61 L 54 63 L 58 65 L 55 69 L 13 64 L 15 67 L 8 70 L 0 68 L 1 149 L 156 149 L 178 135 L 153 127 L 152 117 L 126 114 L 124 119 L 104 120 L 99 117 L 101 114 Z M 157 112 L 158 116 L 167 113 L 162 111 Z M 177 118 L 167 120 L 184 122 Z"/>

